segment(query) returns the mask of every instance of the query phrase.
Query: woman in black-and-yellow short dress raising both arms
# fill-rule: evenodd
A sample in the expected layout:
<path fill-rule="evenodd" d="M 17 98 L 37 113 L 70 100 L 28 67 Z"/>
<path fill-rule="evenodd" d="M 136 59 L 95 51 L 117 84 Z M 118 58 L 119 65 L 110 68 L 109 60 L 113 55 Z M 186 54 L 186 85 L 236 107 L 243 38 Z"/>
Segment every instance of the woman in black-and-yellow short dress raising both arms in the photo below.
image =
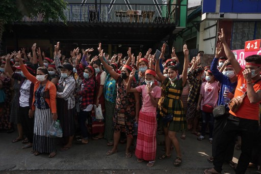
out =
<path fill-rule="evenodd" d="M 163 44 L 162 53 L 160 59 L 163 58 L 165 52 L 166 45 Z M 187 45 L 183 46 L 183 51 L 185 55 L 184 60 L 184 68 L 182 72 L 182 78 L 177 79 L 177 68 L 175 66 L 168 67 L 168 77 L 165 77 L 161 71 L 159 62 L 160 60 L 156 61 L 156 74 L 159 78 L 163 81 L 162 88 L 163 88 L 163 96 L 159 101 L 160 105 L 160 114 L 162 117 L 167 117 L 167 123 L 165 129 L 168 128 L 168 137 L 170 138 L 171 142 L 174 144 L 177 157 L 175 159 L 174 165 L 178 166 L 181 163 L 181 151 L 179 148 L 179 142 L 176 137 L 176 132 L 180 130 L 186 129 L 186 114 L 184 112 L 184 107 L 182 105 L 182 101 L 180 99 L 182 90 L 187 81 L 187 71 L 188 71 L 188 64 L 189 64 L 189 50 L 187 49 Z M 172 115 L 172 118 L 169 117 Z M 170 141 L 165 139 L 166 144 L 166 153 L 159 157 L 159 159 L 164 159 L 166 157 L 170 158 Z M 167 143 L 169 142 L 169 143 Z"/>

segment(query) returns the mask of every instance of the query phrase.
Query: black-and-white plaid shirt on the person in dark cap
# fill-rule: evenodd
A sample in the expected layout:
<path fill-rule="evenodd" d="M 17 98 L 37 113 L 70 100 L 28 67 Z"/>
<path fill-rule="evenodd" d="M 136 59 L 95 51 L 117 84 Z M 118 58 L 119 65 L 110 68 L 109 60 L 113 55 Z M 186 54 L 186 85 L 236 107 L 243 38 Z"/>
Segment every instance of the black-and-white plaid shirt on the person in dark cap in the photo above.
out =
<path fill-rule="evenodd" d="M 61 66 L 61 62 L 58 55 L 55 55 L 55 65 L 57 68 L 58 73 L 61 75 L 61 70 L 58 68 Z M 75 107 L 75 99 L 74 99 L 74 90 L 76 87 L 75 79 L 73 75 L 70 75 L 67 78 L 61 77 L 59 79 L 59 84 L 63 85 L 65 88 L 63 92 L 57 92 L 58 98 L 63 98 L 64 100 L 68 101 L 68 109 L 72 109 Z"/>

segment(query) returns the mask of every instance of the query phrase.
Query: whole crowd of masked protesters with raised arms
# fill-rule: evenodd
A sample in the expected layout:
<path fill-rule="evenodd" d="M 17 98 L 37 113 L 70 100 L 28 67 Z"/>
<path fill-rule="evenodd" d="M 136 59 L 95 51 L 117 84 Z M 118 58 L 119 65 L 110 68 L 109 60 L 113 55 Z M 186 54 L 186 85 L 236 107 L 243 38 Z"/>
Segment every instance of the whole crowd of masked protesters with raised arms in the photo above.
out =
<path fill-rule="evenodd" d="M 117 153 L 119 142 L 126 142 L 126 158 L 132 157 L 134 144 L 137 161 L 148 161 L 152 167 L 158 144 L 165 145 L 158 159 L 170 158 L 174 148 L 173 164 L 179 166 L 182 153 L 176 132 L 182 132 L 181 139 L 191 132 L 199 141 L 208 133 L 212 157 L 207 161 L 214 168 L 204 173 L 220 173 L 224 162 L 236 173 L 245 173 L 249 165 L 261 172 L 261 56 L 246 57 L 243 69 L 223 29 L 215 58 L 205 67 L 202 51 L 189 62 L 186 44 L 183 67 L 174 48 L 170 59 L 164 57 L 165 44 L 160 54 L 149 49 L 137 59 L 131 48 L 126 57 L 121 53 L 109 57 L 100 43 L 99 54 L 92 59 L 93 48 L 82 49 L 82 54 L 75 48 L 65 59 L 59 47 L 58 42 L 54 59 L 45 57 L 36 44 L 32 56 L 22 49 L 1 57 L 0 129 L 12 132 L 16 125 L 18 137 L 12 142 L 21 140 L 22 149 L 32 148 L 35 156 L 48 153 L 52 158 L 56 140 L 63 144 L 60 150 L 67 151 L 74 139 L 88 144 L 89 138 L 105 138 L 112 147 L 108 156 Z M 229 109 L 230 99 L 242 100 L 237 110 Z M 213 109 L 218 106 L 225 111 L 216 117 Z M 96 108 L 102 117 L 97 117 Z M 59 139 L 48 135 L 57 120 L 63 132 Z M 164 134 L 163 142 L 156 141 L 157 130 Z M 242 151 L 238 164 L 232 161 L 235 147 Z"/>

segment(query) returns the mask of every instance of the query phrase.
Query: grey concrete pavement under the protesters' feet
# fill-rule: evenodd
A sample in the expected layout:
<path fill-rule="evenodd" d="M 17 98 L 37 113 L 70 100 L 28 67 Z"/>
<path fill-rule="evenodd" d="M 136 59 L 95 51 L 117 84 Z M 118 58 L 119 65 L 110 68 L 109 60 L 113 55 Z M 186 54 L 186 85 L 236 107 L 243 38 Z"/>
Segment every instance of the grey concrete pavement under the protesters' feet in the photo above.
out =
<path fill-rule="evenodd" d="M 180 133 L 177 133 L 178 138 Z M 183 154 L 182 164 L 173 166 L 175 152 L 172 151 L 170 159 L 158 160 L 155 165 L 148 168 L 146 162 L 139 163 L 135 155 L 126 159 L 125 144 L 119 144 L 118 153 L 106 156 L 111 147 L 106 146 L 106 140 L 90 140 L 87 145 L 74 143 L 73 147 L 61 152 L 57 146 L 57 156 L 48 158 L 47 154 L 34 156 L 29 152 L 32 149 L 22 150 L 21 141 L 12 143 L 17 137 L 17 132 L 12 134 L 0 133 L 0 173 L 203 173 L 205 168 L 213 165 L 207 162 L 211 156 L 211 144 L 206 139 L 198 141 L 197 137 L 187 132 L 186 140 L 179 138 Z M 163 140 L 163 135 L 157 135 L 157 140 Z M 163 146 L 157 147 L 157 157 L 163 155 Z M 133 148 L 134 149 L 134 148 Z M 234 162 L 237 162 L 240 151 L 235 150 Z M 224 164 L 223 173 L 234 173 Z M 247 173 L 254 173 L 248 169 Z"/>

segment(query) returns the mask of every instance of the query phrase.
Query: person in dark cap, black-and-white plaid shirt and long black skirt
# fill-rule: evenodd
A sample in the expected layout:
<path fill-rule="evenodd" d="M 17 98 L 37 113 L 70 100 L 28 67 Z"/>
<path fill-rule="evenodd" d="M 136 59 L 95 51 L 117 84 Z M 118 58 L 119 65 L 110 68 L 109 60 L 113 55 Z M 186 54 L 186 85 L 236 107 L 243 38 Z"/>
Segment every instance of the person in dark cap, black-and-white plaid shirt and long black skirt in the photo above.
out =
<path fill-rule="evenodd" d="M 55 45 L 55 65 L 57 72 L 61 75 L 57 85 L 57 113 L 60 120 L 63 137 L 66 144 L 61 151 L 67 151 L 72 147 L 72 141 L 75 133 L 75 98 L 74 90 L 76 81 L 73 77 L 73 66 L 69 63 L 61 65 L 59 58 L 59 42 Z"/>

